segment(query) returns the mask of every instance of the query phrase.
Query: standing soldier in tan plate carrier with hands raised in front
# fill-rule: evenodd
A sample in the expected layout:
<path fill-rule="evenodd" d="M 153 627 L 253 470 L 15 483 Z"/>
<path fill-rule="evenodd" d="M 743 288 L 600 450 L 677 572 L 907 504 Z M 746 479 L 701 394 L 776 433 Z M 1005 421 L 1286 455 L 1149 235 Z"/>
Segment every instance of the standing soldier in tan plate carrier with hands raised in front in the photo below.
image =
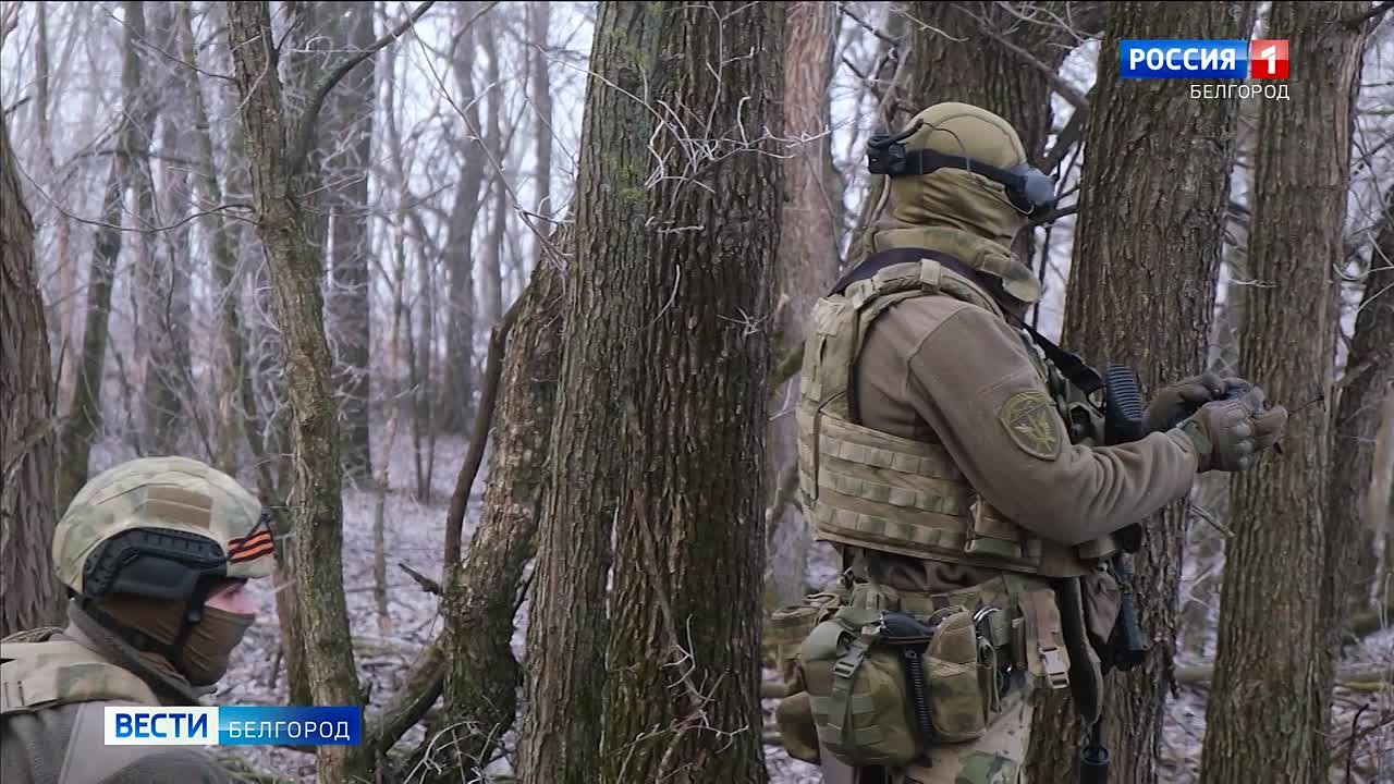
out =
<path fill-rule="evenodd" d="M 1033 695 L 1068 688 L 1100 716 L 1117 534 L 1197 473 L 1253 467 L 1287 412 L 1207 374 L 1160 391 L 1143 437 L 1103 445 L 1097 395 L 1020 321 L 1041 290 L 1009 248 L 1055 194 L 1016 131 L 941 103 L 868 158 L 892 219 L 817 303 L 799 406 L 804 511 L 845 572 L 775 614 L 776 720 L 829 784 L 1013 784 Z M 906 649 L 894 612 L 937 631 Z"/>

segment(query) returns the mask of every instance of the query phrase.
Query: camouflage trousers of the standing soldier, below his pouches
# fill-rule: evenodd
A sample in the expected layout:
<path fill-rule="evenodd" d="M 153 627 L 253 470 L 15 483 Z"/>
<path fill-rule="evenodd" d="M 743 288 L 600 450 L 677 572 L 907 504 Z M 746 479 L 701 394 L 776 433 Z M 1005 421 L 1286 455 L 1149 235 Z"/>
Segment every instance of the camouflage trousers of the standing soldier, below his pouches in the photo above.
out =
<path fill-rule="evenodd" d="M 859 771 L 822 755 L 824 784 L 1027 784 L 1020 771 L 1030 742 L 1033 700 L 1027 688 L 1002 698 L 1002 711 L 987 732 L 966 744 L 930 749 L 914 764 L 889 771 Z"/>

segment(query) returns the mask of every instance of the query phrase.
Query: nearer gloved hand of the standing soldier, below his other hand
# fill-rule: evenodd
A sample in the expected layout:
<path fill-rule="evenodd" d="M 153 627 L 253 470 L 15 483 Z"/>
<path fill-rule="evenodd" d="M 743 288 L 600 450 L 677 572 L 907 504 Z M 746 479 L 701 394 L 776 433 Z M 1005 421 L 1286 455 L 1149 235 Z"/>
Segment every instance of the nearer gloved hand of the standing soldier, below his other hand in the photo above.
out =
<path fill-rule="evenodd" d="M 1263 389 L 1250 385 L 1241 396 L 1200 406 L 1178 427 L 1196 446 L 1197 473 L 1242 472 L 1282 437 L 1287 421 L 1287 409 L 1267 407 Z"/>

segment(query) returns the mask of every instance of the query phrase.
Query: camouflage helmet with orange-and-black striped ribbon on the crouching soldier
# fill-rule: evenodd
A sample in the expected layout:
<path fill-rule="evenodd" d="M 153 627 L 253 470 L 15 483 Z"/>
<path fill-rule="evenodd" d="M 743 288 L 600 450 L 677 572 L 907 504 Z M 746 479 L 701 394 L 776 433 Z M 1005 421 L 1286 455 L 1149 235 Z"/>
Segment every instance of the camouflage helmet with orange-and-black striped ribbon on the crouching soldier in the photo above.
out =
<path fill-rule="evenodd" d="M 233 477 L 188 458 L 142 458 L 88 481 L 53 534 L 63 585 L 180 600 L 209 578 L 255 579 L 275 562 L 270 518 Z"/>

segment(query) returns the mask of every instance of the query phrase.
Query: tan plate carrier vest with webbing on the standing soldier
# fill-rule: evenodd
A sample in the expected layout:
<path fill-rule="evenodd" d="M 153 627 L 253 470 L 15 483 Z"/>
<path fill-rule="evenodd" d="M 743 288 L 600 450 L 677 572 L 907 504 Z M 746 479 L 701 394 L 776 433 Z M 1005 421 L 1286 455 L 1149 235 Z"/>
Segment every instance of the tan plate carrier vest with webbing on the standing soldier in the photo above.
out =
<path fill-rule="evenodd" d="M 933 258 L 871 269 L 818 300 L 804 345 L 799 484 L 818 538 L 1023 573 L 1086 573 L 1072 548 L 983 504 L 942 445 L 856 424 L 856 360 L 871 322 L 891 306 L 947 294 L 1002 315 L 987 293 Z"/>

